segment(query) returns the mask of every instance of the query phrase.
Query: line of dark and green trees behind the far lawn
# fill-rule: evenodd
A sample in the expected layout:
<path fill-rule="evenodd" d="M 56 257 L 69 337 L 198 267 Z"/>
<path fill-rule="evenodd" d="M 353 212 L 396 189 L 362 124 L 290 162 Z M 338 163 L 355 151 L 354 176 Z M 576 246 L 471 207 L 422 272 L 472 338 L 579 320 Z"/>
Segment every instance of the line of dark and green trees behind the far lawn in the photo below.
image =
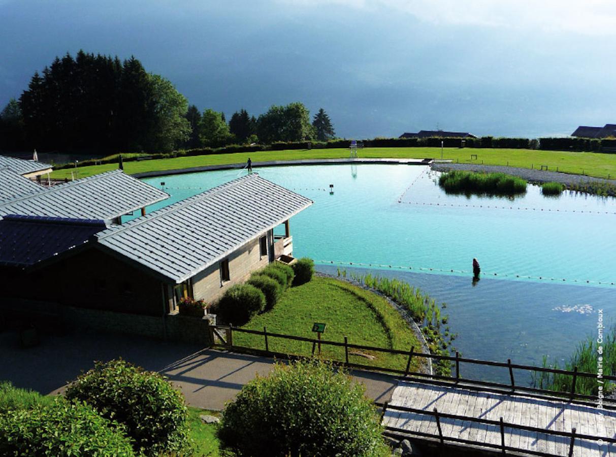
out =
<path fill-rule="evenodd" d="M 255 117 L 200 111 L 135 57 L 79 51 L 35 72 L 19 99 L 0 112 L 0 150 L 168 152 L 176 148 L 272 144 L 334 138 L 321 108 L 312 121 L 299 102 Z"/>

